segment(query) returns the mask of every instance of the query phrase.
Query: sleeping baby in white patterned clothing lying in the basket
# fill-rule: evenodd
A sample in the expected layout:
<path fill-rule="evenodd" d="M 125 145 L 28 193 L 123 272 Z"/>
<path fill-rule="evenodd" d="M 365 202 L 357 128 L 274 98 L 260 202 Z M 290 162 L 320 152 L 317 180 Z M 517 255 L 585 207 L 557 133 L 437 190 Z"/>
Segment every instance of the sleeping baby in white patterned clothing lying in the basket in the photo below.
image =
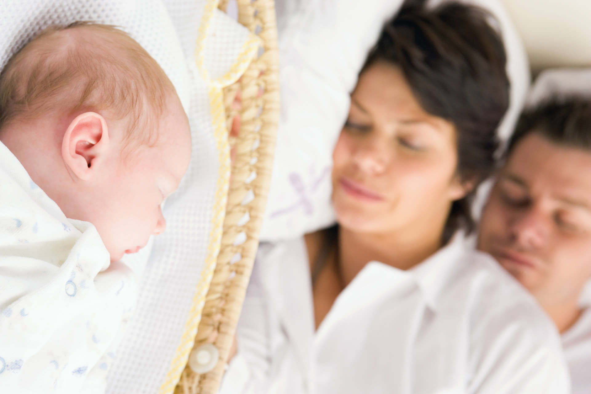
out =
<path fill-rule="evenodd" d="M 100 392 L 191 155 L 173 84 L 110 26 L 49 28 L 0 74 L 0 388 Z"/>

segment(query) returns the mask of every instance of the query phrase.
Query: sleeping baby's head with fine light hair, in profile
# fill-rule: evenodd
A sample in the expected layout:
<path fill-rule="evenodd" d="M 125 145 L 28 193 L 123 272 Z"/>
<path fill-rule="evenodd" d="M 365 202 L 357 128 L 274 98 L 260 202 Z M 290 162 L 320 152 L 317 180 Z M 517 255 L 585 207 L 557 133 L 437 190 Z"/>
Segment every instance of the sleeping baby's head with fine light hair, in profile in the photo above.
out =
<path fill-rule="evenodd" d="M 191 136 L 164 71 L 114 27 L 50 28 L 0 74 L 0 141 L 111 260 L 163 232 L 160 206 L 189 166 Z"/>

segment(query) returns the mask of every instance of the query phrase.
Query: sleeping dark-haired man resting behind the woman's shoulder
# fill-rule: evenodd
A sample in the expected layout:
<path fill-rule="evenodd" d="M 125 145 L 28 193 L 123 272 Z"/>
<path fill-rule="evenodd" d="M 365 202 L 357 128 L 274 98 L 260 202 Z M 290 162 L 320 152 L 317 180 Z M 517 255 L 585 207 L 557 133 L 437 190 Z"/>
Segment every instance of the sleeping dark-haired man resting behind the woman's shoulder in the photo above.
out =
<path fill-rule="evenodd" d="M 478 248 L 527 288 L 563 341 L 573 394 L 591 392 L 591 99 L 527 110 L 486 203 Z"/>

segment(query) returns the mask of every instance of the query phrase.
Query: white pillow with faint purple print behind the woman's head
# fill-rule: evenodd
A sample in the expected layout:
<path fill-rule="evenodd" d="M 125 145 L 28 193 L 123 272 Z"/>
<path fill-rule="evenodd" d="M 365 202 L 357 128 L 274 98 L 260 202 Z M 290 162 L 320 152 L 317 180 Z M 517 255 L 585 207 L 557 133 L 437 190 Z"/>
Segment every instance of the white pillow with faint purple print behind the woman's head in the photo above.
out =
<path fill-rule="evenodd" d="M 498 0 L 465 2 L 489 9 L 501 25 L 512 84 L 499 128 L 506 138 L 529 86 L 527 57 Z M 335 222 L 332 151 L 349 93 L 382 25 L 401 5 L 402 0 L 277 0 L 282 106 L 262 240 L 289 239 Z"/>

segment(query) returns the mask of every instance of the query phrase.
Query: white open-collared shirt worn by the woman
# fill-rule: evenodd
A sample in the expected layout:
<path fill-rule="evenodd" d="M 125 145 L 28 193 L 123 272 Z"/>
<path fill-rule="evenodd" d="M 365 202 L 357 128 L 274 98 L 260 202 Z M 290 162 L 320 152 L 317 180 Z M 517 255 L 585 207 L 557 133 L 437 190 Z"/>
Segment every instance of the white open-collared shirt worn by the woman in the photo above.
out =
<path fill-rule="evenodd" d="M 314 332 L 303 239 L 261 245 L 220 390 L 240 393 L 570 393 L 537 302 L 458 234 L 409 271 L 370 262 Z"/>

